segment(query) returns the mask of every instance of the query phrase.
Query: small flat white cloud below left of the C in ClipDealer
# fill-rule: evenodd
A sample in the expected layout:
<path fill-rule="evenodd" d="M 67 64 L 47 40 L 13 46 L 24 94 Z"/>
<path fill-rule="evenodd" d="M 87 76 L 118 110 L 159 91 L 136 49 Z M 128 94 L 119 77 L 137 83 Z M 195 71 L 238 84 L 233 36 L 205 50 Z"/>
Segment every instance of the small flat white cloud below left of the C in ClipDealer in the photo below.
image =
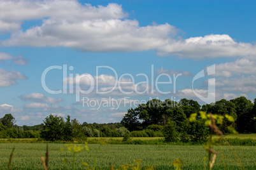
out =
<path fill-rule="evenodd" d="M 46 102 L 46 103 L 59 103 L 60 101 L 63 101 L 62 98 L 52 98 L 52 97 L 46 97 L 42 93 L 30 93 L 27 95 L 21 95 L 21 100 L 24 101 L 37 101 L 37 102 Z"/>

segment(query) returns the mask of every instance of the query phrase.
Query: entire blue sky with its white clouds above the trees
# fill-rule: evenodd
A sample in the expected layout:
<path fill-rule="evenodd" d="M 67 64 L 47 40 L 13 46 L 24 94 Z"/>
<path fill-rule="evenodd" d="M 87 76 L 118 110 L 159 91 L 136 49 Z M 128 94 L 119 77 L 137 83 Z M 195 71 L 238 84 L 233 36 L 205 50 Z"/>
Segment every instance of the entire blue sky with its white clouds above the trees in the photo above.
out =
<path fill-rule="evenodd" d="M 239 96 L 253 100 L 255 6 L 0 1 L 0 117 L 13 114 L 18 125 L 40 124 L 50 114 L 119 122 L 128 108 L 152 98 L 201 105 Z M 41 79 L 47 68 L 53 69 Z M 48 93 L 44 82 L 62 93 Z"/>

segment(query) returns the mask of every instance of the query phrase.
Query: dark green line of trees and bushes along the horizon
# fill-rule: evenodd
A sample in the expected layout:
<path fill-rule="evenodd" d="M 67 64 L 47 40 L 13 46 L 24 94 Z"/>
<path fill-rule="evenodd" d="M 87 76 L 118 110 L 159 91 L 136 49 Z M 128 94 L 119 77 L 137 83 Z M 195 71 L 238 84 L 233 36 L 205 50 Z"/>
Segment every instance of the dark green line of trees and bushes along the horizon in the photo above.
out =
<path fill-rule="evenodd" d="M 206 141 L 209 129 L 204 126 L 199 112 L 207 114 L 231 115 L 234 122 L 226 119 L 218 125 L 223 133 L 229 133 L 232 125 L 239 133 L 256 133 L 256 99 L 254 103 L 241 96 L 232 100 L 222 99 L 215 103 L 199 105 L 197 101 L 181 99 L 153 99 L 145 104 L 131 108 L 121 122 L 108 124 L 89 124 L 57 115 L 49 115 L 43 124 L 36 126 L 17 126 L 11 114 L 0 120 L 0 138 L 42 138 L 44 140 L 84 140 L 86 137 L 165 137 L 169 141 Z M 197 113 L 197 121 L 190 122 L 191 114 Z"/>

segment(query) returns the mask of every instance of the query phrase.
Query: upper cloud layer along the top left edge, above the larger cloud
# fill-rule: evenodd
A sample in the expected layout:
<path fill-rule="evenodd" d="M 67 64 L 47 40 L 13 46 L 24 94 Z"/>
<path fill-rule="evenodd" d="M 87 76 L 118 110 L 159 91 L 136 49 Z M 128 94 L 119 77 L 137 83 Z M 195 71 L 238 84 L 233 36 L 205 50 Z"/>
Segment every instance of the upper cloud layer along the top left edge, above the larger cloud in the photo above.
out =
<path fill-rule="evenodd" d="M 121 6 L 110 4 L 109 6 L 82 6 L 77 1 L 1 1 L 0 32 L 9 32 L 20 29 L 24 20 L 41 18 L 66 18 L 69 22 L 80 19 L 107 19 L 123 18 Z"/>

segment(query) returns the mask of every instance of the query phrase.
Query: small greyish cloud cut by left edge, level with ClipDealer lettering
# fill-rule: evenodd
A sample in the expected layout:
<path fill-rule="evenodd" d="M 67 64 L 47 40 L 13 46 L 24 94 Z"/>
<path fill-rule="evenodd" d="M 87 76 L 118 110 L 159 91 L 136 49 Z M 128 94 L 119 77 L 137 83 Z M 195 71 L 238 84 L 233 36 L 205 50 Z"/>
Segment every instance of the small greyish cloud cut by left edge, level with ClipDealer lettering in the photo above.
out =
<path fill-rule="evenodd" d="M 27 79 L 25 75 L 22 75 L 20 72 L 11 70 L 10 72 L 0 68 L 0 87 L 11 86 L 17 84 L 17 80 Z"/>

